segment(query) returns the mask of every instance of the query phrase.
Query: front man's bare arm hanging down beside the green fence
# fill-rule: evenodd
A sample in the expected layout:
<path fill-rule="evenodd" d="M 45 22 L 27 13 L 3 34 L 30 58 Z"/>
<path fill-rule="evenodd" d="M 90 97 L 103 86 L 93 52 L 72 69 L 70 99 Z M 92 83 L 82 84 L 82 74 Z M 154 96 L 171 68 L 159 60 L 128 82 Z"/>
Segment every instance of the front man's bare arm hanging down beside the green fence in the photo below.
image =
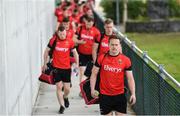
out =
<path fill-rule="evenodd" d="M 134 77 L 133 77 L 132 71 L 126 71 L 126 77 L 128 80 L 128 87 L 131 92 L 129 101 L 130 101 L 131 105 L 134 105 L 136 103 L 136 93 L 135 93 L 135 82 L 134 82 Z"/>

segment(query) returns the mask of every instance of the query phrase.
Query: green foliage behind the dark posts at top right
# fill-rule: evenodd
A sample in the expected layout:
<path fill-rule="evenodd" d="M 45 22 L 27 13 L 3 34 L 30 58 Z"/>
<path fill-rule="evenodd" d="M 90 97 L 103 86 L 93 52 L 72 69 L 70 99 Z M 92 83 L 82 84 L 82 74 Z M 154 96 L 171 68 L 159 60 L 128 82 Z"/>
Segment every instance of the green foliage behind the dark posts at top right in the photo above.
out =
<path fill-rule="evenodd" d="M 128 0 L 128 19 L 141 20 L 148 19 L 147 0 Z M 116 20 L 116 0 L 102 0 L 101 6 L 104 8 L 106 17 Z M 178 0 L 168 0 L 169 18 L 180 17 L 180 2 Z M 123 16 L 123 0 L 119 1 L 120 22 Z"/>

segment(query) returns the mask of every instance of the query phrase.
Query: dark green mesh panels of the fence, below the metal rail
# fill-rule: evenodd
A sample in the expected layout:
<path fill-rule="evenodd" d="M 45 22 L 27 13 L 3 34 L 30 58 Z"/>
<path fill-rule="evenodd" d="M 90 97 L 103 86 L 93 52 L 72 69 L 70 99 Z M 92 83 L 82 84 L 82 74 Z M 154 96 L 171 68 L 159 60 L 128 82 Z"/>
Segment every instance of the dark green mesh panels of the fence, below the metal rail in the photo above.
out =
<path fill-rule="evenodd" d="M 96 25 L 102 31 L 103 22 L 95 13 Z M 180 93 L 137 55 L 124 41 L 123 53 L 132 61 L 136 83 L 137 115 L 180 115 Z M 129 94 L 127 95 L 129 97 Z"/>

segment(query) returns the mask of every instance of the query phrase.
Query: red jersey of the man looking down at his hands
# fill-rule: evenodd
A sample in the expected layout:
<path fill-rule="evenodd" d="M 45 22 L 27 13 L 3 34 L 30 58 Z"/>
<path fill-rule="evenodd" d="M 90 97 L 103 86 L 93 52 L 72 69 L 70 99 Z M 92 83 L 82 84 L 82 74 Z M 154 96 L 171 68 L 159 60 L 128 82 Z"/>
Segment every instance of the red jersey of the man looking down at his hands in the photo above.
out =
<path fill-rule="evenodd" d="M 85 44 L 78 45 L 78 52 L 84 55 L 92 55 L 92 46 L 95 41 L 100 41 L 100 32 L 96 27 L 91 27 L 89 30 L 85 26 L 79 27 L 77 30 L 79 40 L 86 41 Z"/>

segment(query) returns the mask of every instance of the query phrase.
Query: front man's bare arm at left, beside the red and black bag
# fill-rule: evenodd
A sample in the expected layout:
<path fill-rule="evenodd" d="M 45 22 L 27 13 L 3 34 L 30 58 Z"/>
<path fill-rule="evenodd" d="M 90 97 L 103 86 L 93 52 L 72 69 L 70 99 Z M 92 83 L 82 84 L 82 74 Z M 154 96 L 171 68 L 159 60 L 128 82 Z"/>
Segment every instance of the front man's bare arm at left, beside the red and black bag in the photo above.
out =
<path fill-rule="evenodd" d="M 91 77 L 90 77 L 90 86 L 91 86 L 91 96 L 93 98 L 97 97 L 95 95 L 95 85 L 96 85 L 96 79 L 97 79 L 97 74 L 99 72 L 99 67 L 96 67 L 95 65 L 93 66 Z"/>

